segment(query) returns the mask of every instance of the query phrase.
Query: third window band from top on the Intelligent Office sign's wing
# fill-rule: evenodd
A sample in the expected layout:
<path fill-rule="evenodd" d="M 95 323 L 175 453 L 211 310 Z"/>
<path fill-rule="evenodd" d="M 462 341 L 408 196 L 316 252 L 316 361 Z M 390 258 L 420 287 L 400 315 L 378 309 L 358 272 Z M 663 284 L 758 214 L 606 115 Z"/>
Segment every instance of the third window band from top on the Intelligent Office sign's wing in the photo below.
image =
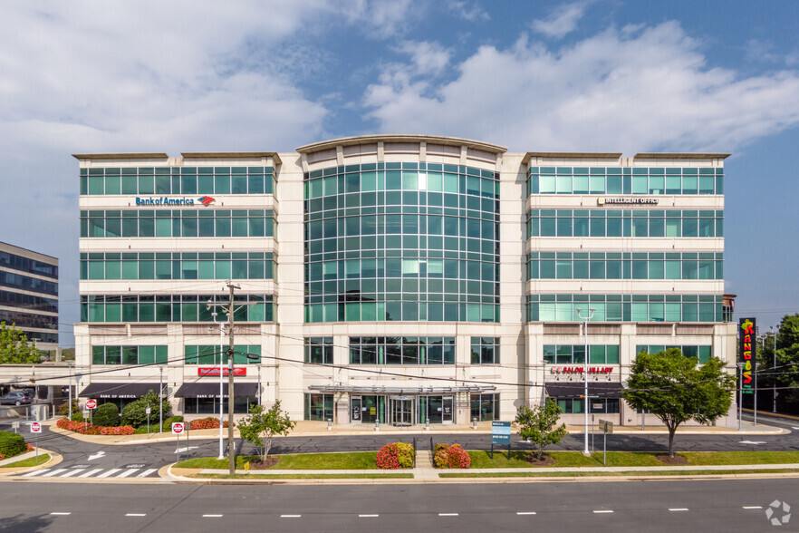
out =
<path fill-rule="evenodd" d="M 531 252 L 527 279 L 724 279 L 724 259 L 709 252 Z"/>

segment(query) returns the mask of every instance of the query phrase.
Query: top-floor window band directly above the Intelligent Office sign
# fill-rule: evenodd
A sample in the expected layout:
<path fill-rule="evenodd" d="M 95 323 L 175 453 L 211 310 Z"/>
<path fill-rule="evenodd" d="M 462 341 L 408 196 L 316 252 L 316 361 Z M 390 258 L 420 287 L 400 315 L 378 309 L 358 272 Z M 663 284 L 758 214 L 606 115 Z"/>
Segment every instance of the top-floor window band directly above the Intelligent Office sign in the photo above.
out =
<path fill-rule="evenodd" d="M 659 167 L 531 167 L 531 194 L 724 194 L 724 169 Z"/>

